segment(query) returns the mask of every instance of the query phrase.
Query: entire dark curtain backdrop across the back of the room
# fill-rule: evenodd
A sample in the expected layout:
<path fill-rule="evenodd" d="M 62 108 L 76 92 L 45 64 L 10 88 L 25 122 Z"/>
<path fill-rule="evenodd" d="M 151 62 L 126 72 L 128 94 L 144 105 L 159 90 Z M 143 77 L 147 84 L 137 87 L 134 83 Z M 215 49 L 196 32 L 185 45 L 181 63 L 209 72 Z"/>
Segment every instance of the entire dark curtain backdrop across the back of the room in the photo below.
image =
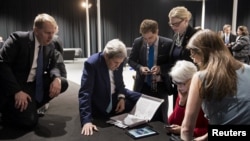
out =
<path fill-rule="evenodd" d="M 0 36 L 6 39 L 18 30 L 32 30 L 39 13 L 52 15 L 59 25 L 64 48 L 82 48 L 87 57 L 86 11 L 80 6 L 84 0 L 0 0 Z M 89 0 L 91 54 L 98 51 L 96 0 Z M 139 25 L 145 18 L 157 20 L 159 34 L 172 38 L 168 13 L 175 6 L 185 6 L 193 14 L 191 25 L 201 25 L 202 2 L 199 0 L 101 0 L 102 48 L 113 38 L 131 46 L 140 36 Z M 233 0 L 206 0 L 205 28 L 222 30 L 232 23 Z M 237 26 L 250 28 L 250 8 L 247 0 L 238 0 Z"/>

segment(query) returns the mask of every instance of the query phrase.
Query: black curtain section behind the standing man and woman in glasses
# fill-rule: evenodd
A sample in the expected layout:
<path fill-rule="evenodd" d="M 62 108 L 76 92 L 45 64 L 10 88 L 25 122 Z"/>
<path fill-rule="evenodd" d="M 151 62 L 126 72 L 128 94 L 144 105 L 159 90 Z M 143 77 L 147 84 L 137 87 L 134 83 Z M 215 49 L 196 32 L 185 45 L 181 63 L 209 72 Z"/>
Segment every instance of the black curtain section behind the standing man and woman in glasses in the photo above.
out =
<path fill-rule="evenodd" d="M 192 26 L 200 25 L 201 2 L 175 0 L 105 0 L 102 7 L 103 44 L 112 39 L 121 39 L 128 47 L 140 36 L 139 26 L 143 19 L 158 21 L 159 34 L 172 38 L 168 26 L 168 13 L 175 6 L 185 6 L 193 14 Z"/>

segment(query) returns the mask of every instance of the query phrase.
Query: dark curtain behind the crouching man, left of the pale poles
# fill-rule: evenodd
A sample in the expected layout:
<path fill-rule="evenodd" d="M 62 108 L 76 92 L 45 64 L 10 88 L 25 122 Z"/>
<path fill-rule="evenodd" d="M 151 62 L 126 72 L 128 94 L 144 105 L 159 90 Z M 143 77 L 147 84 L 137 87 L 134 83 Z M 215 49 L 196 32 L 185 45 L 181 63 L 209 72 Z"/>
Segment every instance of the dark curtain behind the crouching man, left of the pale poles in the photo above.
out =
<path fill-rule="evenodd" d="M 48 13 L 59 25 L 58 35 L 63 41 L 63 47 L 82 48 L 83 56 L 86 56 L 86 11 L 80 6 L 81 2 L 81 0 L 1 0 L 0 36 L 6 39 L 14 31 L 32 30 L 35 16 L 39 13 Z M 89 2 L 94 3 L 91 0 Z M 96 11 L 91 8 L 91 14 L 92 10 Z M 92 25 L 94 21 L 91 22 Z M 95 27 L 91 28 L 93 32 Z"/>

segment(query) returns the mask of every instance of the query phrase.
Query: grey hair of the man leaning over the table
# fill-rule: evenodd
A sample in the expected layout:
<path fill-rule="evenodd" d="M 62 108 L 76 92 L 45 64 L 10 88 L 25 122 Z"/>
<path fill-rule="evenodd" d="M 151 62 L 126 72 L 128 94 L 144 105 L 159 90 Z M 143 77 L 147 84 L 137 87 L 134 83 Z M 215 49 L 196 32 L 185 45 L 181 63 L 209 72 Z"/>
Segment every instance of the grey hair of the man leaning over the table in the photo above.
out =
<path fill-rule="evenodd" d="M 103 53 L 109 58 L 125 58 L 127 57 L 127 50 L 125 44 L 119 39 L 110 40 Z"/>

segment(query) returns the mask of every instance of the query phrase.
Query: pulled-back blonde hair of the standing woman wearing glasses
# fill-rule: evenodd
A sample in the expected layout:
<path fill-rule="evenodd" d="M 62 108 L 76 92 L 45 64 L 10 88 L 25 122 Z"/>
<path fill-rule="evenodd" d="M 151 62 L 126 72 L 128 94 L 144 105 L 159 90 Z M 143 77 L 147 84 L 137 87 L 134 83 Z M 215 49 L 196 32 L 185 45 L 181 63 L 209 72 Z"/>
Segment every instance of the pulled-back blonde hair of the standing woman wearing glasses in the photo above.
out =
<path fill-rule="evenodd" d="M 174 7 L 168 14 L 169 19 L 170 18 L 179 18 L 183 20 L 188 20 L 192 18 L 191 12 L 184 6 L 177 6 Z"/>

